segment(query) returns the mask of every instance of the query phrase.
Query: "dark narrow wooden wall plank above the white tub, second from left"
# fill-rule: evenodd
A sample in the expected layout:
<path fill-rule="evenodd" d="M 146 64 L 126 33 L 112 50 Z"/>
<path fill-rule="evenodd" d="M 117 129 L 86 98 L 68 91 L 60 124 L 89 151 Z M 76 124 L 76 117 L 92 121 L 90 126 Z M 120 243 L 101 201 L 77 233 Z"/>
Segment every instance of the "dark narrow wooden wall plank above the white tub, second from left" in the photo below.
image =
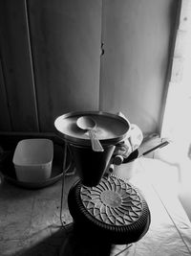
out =
<path fill-rule="evenodd" d="M 25 0 L 0 1 L 1 51 L 13 130 L 37 131 Z"/>

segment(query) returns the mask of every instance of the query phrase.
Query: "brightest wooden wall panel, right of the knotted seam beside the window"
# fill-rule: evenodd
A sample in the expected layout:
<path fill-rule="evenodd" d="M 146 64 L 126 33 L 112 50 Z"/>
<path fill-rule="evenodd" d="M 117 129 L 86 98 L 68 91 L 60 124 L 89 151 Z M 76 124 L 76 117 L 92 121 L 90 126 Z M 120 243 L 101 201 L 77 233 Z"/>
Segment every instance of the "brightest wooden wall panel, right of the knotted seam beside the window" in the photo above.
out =
<path fill-rule="evenodd" d="M 103 1 L 100 108 L 123 112 L 146 134 L 159 132 L 173 5 Z"/>

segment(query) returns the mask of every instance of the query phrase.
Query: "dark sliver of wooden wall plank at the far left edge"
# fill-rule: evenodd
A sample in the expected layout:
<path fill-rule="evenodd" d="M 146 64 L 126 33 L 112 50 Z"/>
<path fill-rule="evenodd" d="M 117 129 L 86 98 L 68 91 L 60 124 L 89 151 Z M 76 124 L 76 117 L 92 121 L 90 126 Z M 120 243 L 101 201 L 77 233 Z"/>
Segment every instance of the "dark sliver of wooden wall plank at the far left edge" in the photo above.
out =
<path fill-rule="evenodd" d="M 11 130 L 11 119 L 0 58 L 0 130 Z"/>

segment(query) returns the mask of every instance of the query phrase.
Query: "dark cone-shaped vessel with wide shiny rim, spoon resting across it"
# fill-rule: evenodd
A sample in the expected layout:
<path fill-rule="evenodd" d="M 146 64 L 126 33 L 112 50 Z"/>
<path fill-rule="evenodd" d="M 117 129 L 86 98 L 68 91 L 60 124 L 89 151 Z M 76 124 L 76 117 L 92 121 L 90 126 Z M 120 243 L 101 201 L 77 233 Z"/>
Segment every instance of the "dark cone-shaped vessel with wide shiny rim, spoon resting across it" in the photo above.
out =
<path fill-rule="evenodd" d="M 104 151 L 93 151 L 86 132 L 77 127 L 81 116 L 90 116 L 96 121 L 96 137 Z M 71 112 L 59 116 L 55 122 L 57 134 L 69 146 L 74 158 L 76 172 L 86 186 L 96 186 L 110 162 L 115 145 L 130 135 L 127 119 L 102 111 Z"/>

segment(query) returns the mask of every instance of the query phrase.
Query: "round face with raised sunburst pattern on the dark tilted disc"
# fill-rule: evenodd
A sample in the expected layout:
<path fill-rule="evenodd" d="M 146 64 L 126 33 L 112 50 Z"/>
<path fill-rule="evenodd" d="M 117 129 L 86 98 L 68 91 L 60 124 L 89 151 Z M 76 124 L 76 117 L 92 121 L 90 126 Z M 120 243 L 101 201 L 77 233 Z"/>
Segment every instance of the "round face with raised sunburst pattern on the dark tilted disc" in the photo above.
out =
<path fill-rule="evenodd" d="M 142 213 L 138 191 L 114 175 L 103 177 L 96 187 L 82 186 L 80 197 L 96 220 L 108 224 L 128 225 L 138 221 Z"/>

